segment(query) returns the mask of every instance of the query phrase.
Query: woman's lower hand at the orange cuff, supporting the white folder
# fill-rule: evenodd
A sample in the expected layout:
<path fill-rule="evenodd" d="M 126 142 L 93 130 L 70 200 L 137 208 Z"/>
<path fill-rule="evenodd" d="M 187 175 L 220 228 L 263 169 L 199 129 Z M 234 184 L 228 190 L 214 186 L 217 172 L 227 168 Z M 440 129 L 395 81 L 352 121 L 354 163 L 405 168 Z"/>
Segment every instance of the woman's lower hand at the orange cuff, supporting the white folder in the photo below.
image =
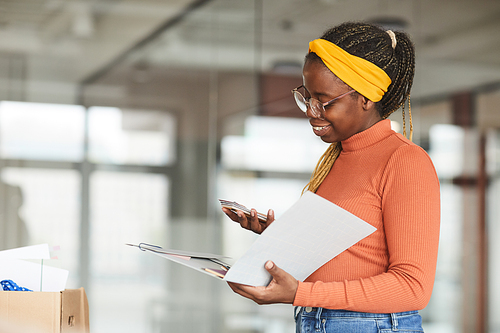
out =
<path fill-rule="evenodd" d="M 235 293 L 249 298 L 259 305 L 274 303 L 292 304 L 299 286 L 299 281 L 276 266 L 272 261 L 266 262 L 264 267 L 273 277 L 271 283 L 269 283 L 267 287 L 252 287 L 228 282 L 229 286 Z"/>

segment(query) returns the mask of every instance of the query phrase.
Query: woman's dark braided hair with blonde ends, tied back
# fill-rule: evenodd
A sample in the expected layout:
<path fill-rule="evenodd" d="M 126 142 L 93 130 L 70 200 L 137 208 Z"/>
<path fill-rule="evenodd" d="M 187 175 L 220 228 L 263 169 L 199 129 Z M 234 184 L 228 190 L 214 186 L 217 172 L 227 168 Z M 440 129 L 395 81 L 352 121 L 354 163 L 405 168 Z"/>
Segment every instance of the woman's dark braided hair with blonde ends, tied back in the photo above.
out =
<path fill-rule="evenodd" d="M 380 116 L 385 119 L 394 111 L 403 106 L 403 127 L 406 136 L 404 103 L 409 100 L 410 89 L 413 84 L 415 73 L 415 48 L 410 37 L 404 33 L 395 31 L 396 45 L 393 47 L 393 39 L 389 33 L 380 27 L 368 23 L 348 22 L 327 30 L 322 39 L 330 41 L 342 48 L 344 51 L 357 57 L 368 60 L 383 69 L 391 78 L 391 84 L 387 88 L 375 108 Z M 306 56 L 307 61 L 321 61 L 315 53 Z M 410 138 L 413 130 L 410 115 Z M 321 156 L 313 171 L 311 180 L 304 190 L 316 192 L 335 160 L 342 151 L 340 142 L 332 143 Z"/>

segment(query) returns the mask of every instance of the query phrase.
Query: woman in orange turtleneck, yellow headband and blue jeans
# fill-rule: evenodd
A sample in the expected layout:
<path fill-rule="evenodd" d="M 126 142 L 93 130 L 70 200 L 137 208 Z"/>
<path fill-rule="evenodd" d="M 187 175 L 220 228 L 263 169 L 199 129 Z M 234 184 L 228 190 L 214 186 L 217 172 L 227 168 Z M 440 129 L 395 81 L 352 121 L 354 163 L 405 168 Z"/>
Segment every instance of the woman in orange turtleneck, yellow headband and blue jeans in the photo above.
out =
<path fill-rule="evenodd" d="M 297 281 L 272 262 L 267 287 L 229 283 L 258 304 L 291 303 L 297 332 L 421 332 L 439 242 L 439 182 L 429 156 L 386 119 L 409 99 L 414 48 L 401 32 L 345 23 L 309 44 L 294 89 L 312 129 L 331 143 L 308 189 L 377 228 Z M 405 131 L 406 132 L 406 131 Z M 410 112 L 411 137 L 411 112 Z M 255 210 L 224 212 L 261 233 Z"/>

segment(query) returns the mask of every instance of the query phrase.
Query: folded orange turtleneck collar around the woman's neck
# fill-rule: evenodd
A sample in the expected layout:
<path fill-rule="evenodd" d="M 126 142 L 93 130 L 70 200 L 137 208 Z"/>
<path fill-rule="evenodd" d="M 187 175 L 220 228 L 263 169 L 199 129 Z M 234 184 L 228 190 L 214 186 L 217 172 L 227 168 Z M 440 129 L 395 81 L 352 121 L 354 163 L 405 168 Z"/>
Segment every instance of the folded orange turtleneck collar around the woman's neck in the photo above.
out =
<path fill-rule="evenodd" d="M 391 121 L 389 119 L 381 120 L 375 123 L 372 127 L 367 128 L 363 132 L 359 132 L 350 138 L 342 141 L 342 150 L 351 152 L 369 147 L 395 132 L 391 129 Z"/>

